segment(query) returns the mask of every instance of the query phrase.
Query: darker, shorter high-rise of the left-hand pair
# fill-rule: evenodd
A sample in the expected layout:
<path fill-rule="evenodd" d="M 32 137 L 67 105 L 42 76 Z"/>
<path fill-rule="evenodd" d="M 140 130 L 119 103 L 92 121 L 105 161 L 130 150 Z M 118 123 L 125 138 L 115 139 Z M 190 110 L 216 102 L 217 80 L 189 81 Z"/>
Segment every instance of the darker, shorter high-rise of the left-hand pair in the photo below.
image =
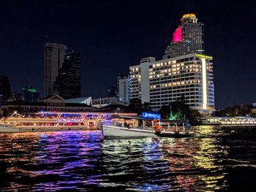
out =
<path fill-rule="evenodd" d="M 71 52 L 65 55 L 64 64 L 59 70 L 56 88 L 64 99 L 81 96 L 81 55 Z"/>

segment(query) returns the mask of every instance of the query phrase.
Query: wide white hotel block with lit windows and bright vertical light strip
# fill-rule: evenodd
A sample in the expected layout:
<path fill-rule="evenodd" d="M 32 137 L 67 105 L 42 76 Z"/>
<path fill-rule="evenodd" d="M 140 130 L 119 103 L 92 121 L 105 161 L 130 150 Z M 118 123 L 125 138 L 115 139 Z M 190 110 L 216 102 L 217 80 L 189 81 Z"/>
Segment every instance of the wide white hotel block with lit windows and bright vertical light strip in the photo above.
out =
<path fill-rule="evenodd" d="M 203 54 L 181 55 L 155 61 L 143 58 L 130 66 L 130 99 L 149 102 L 153 110 L 184 97 L 189 107 L 200 112 L 214 110 L 212 57 Z"/>

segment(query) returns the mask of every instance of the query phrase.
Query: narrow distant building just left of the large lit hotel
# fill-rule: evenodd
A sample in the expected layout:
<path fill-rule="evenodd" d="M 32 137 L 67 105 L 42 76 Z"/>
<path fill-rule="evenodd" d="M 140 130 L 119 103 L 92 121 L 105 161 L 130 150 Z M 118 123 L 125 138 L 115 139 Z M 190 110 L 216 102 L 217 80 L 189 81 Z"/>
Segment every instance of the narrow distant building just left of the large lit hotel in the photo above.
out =
<path fill-rule="evenodd" d="M 129 75 L 119 74 L 117 77 L 117 97 L 120 103 L 129 103 Z"/>

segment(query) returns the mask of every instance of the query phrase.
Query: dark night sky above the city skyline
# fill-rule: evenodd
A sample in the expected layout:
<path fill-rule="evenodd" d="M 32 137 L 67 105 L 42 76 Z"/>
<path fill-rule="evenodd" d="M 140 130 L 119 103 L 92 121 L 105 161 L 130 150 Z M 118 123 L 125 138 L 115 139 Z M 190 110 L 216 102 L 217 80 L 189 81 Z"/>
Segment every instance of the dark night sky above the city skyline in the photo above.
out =
<path fill-rule="evenodd" d="M 182 15 L 205 24 L 214 56 L 217 108 L 256 101 L 256 2 L 250 1 L 0 1 L 0 74 L 12 91 L 32 85 L 42 96 L 43 45 L 82 54 L 83 96 L 106 96 L 118 72 L 153 55 L 161 59 Z"/>

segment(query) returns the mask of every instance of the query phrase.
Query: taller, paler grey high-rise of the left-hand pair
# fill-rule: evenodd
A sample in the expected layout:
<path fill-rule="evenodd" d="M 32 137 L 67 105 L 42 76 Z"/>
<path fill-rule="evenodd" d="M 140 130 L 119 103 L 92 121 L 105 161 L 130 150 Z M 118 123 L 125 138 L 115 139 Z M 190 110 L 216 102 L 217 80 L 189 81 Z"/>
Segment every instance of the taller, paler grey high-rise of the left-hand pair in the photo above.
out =
<path fill-rule="evenodd" d="M 45 43 L 44 55 L 44 96 L 56 93 L 56 77 L 64 63 L 67 46 L 56 43 Z"/>

